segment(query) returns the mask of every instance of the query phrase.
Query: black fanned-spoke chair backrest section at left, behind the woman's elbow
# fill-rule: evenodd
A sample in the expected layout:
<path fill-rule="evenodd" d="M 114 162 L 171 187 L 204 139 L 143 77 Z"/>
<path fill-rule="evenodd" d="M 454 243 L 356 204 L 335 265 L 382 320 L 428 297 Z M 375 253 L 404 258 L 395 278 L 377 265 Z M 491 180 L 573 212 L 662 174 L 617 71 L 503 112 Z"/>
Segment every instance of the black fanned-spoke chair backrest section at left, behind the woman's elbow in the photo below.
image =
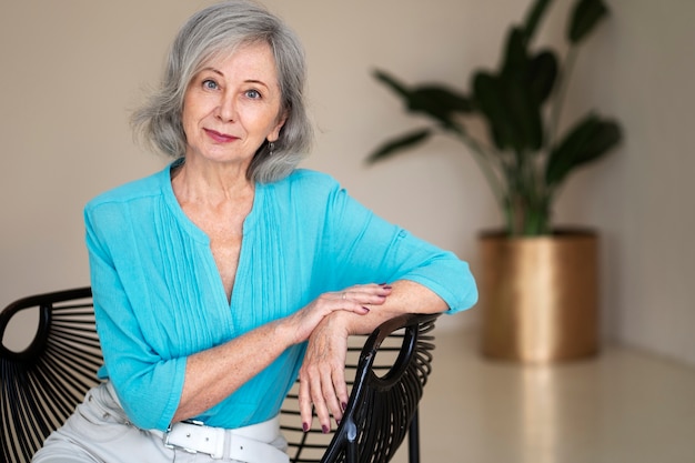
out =
<path fill-rule="evenodd" d="M 38 322 L 18 352 L 4 345 L 4 334 L 20 312 Z M 102 359 L 90 289 L 16 301 L 0 312 L 0 461 L 29 462 L 98 383 Z"/>

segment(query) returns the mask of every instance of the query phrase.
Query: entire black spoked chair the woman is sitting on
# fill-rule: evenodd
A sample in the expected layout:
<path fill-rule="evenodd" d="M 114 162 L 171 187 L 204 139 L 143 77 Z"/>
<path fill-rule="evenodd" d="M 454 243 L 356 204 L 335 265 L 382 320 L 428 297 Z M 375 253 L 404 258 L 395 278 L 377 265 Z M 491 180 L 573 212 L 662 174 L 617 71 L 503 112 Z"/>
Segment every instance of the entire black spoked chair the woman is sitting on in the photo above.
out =
<path fill-rule="evenodd" d="M 4 345 L 4 333 L 20 312 L 34 312 L 38 328 L 32 342 L 18 352 Z M 436 315 L 406 314 L 369 336 L 351 339 L 345 378 L 354 375 L 354 381 L 333 434 L 318 427 L 302 431 L 295 384 L 281 411 L 292 463 L 387 462 L 406 434 L 410 463 L 417 463 L 417 404 L 431 372 L 435 320 Z M 8 305 L 0 312 L 0 461 L 29 462 L 99 383 L 95 373 L 102 358 L 91 289 Z"/>

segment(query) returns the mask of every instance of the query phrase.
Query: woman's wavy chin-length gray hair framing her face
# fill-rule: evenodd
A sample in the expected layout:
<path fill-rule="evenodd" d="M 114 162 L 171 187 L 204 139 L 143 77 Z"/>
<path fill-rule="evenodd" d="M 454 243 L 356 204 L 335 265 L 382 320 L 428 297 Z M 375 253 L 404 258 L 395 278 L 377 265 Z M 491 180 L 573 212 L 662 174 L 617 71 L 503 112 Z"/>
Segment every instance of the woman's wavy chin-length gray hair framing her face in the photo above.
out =
<path fill-rule="evenodd" d="M 249 0 L 213 4 L 183 24 L 169 51 L 159 88 L 132 115 L 135 133 L 163 153 L 182 158 L 187 138 L 181 113 L 189 83 L 211 58 L 256 42 L 265 42 L 272 49 L 282 94 L 281 113 L 288 118 L 273 150 L 269 143 L 258 149 L 246 177 L 265 183 L 286 177 L 313 141 L 303 95 L 304 50 L 282 20 Z"/>

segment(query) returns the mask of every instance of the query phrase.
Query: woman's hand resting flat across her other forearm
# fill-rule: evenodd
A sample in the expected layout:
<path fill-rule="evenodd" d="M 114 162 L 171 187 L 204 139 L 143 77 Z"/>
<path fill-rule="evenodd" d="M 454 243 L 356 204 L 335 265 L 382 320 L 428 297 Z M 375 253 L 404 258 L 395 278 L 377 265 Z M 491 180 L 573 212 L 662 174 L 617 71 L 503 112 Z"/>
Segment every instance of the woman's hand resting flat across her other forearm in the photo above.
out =
<path fill-rule="evenodd" d="M 353 312 L 366 315 L 372 308 L 385 302 L 387 290 L 380 284 L 357 284 L 343 291 L 321 294 L 302 310 L 285 319 L 295 333 L 294 343 L 309 339 L 321 321 L 335 311 Z"/>

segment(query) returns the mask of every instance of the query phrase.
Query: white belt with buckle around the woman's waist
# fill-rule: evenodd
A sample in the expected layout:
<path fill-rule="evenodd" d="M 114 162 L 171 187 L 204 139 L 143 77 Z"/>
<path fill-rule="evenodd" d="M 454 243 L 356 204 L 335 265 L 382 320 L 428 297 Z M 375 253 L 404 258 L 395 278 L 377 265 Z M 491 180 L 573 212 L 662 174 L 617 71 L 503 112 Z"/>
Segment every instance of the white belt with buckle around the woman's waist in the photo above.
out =
<path fill-rule="evenodd" d="M 198 422 L 179 422 L 163 433 L 164 445 L 190 453 L 205 453 L 214 460 L 230 459 L 248 463 L 288 463 L 290 457 L 273 442 L 279 435 L 279 419 L 226 430 Z"/>

